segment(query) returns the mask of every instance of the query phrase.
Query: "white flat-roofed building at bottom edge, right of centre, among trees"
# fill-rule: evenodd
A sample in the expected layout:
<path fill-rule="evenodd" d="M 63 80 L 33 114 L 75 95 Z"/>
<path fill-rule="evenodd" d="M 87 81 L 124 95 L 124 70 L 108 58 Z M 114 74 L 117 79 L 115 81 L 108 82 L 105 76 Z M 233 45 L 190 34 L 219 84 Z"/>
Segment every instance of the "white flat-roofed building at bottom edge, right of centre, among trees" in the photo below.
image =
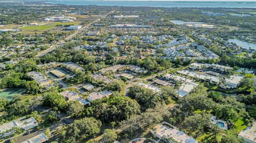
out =
<path fill-rule="evenodd" d="M 169 123 L 162 123 L 156 125 L 150 133 L 154 134 L 159 139 L 164 139 L 166 142 L 179 142 L 179 143 L 197 143 L 198 141 L 193 137 L 188 136 Z"/>

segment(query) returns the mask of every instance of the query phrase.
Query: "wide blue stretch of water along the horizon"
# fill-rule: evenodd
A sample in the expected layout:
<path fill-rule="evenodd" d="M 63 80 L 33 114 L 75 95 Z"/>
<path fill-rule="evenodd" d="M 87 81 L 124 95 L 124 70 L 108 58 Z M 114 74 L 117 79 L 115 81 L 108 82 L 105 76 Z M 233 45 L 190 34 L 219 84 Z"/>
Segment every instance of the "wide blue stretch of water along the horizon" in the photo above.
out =
<path fill-rule="evenodd" d="M 157 2 L 157 1 L 92 1 L 92 0 L 61 0 L 50 1 L 51 4 L 66 5 L 105 5 L 105 6 L 151 6 L 151 7 L 230 7 L 256 8 L 256 2 Z"/>

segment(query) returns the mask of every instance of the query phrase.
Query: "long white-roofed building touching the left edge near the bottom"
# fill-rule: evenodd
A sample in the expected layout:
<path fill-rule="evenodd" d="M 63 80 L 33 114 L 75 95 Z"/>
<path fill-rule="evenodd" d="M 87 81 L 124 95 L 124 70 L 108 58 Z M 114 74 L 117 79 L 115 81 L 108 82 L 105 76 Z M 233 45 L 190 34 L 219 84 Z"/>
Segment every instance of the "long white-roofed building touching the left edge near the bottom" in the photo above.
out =
<path fill-rule="evenodd" d="M 37 126 L 38 123 L 34 117 L 30 117 L 28 119 L 26 119 L 26 117 L 22 117 L 21 119 L 0 125 L 0 138 L 11 136 L 15 132 L 15 128 L 27 131 Z"/>

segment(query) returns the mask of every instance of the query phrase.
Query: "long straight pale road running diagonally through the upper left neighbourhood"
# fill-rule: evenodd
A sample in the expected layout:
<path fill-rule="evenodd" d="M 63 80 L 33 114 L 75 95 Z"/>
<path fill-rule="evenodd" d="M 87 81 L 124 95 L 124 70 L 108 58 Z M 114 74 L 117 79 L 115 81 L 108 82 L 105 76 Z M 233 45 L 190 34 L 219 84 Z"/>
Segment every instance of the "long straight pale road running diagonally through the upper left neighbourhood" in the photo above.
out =
<path fill-rule="evenodd" d="M 110 11 L 109 13 L 105 14 L 102 18 L 106 18 L 106 16 L 108 16 L 110 13 L 113 13 L 114 11 Z M 52 52 L 54 49 L 56 49 L 58 46 L 60 46 L 62 43 L 65 43 L 65 40 L 70 40 L 72 39 L 73 37 L 77 36 L 79 33 L 83 32 L 85 29 L 89 28 L 93 23 L 95 22 L 98 22 L 100 21 L 100 18 L 97 19 L 97 20 L 94 20 L 90 23 L 88 23 L 86 26 L 82 27 L 81 29 L 78 29 L 76 32 L 72 33 L 71 35 L 69 35 L 68 37 L 66 37 L 65 39 L 59 41 L 59 43 L 55 44 L 55 45 L 52 45 L 51 47 L 47 48 L 45 51 L 42 51 L 40 53 L 38 53 L 36 55 L 36 57 L 39 57 L 39 56 L 43 56 L 43 55 L 46 55 L 50 52 Z"/>

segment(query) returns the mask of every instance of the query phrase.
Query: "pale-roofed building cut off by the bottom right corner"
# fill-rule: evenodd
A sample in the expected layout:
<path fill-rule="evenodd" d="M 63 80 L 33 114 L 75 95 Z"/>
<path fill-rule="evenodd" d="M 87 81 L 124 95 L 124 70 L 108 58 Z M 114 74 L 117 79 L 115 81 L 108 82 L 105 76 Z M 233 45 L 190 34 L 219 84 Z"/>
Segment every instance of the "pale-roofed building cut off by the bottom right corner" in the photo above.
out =
<path fill-rule="evenodd" d="M 238 138 L 243 138 L 246 143 L 256 143 L 256 122 L 252 127 L 247 127 L 238 134 Z"/>

